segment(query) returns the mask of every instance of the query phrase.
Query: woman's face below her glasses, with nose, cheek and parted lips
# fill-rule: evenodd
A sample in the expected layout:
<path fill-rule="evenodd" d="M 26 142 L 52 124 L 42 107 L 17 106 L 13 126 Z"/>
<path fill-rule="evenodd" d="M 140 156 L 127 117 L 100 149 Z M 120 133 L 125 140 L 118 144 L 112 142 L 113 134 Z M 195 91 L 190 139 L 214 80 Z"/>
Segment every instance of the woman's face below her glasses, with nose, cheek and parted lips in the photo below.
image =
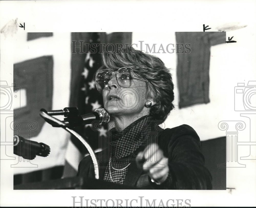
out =
<path fill-rule="evenodd" d="M 133 79 L 130 87 L 122 87 L 117 83 L 116 76 L 113 76 L 102 95 L 104 108 L 110 113 L 148 114 L 148 108 L 145 107 L 147 83 L 143 80 Z"/>

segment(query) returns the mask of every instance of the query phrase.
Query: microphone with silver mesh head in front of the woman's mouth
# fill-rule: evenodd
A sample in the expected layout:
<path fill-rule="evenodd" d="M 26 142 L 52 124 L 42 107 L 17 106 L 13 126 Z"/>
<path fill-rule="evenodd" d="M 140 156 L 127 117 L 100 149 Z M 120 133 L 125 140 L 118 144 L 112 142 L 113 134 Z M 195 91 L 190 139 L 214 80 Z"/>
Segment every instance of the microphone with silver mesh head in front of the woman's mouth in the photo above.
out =
<path fill-rule="evenodd" d="M 91 124 L 93 121 L 98 121 L 99 124 L 106 124 L 109 122 L 110 115 L 104 108 L 98 108 L 92 113 L 85 115 L 69 115 L 67 118 L 62 121 L 67 126 L 76 127 L 86 124 Z M 54 127 L 59 127 L 58 124 L 52 124 Z"/>

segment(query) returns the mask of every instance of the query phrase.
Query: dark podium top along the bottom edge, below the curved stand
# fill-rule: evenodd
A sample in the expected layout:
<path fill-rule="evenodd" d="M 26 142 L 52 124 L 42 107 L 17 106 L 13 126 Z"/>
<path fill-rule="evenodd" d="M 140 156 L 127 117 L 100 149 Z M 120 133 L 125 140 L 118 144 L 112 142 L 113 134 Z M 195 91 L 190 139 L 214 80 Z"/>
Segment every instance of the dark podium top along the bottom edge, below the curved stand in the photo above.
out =
<path fill-rule="evenodd" d="M 115 184 L 95 178 L 72 177 L 15 185 L 14 190 L 47 189 L 139 189 L 137 187 Z"/>

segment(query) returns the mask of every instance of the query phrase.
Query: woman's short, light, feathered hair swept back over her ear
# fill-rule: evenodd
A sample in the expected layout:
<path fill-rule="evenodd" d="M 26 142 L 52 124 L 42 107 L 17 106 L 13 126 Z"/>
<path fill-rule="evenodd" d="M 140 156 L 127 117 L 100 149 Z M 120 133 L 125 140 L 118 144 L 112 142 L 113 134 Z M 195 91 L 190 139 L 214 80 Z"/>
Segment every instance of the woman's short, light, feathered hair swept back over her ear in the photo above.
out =
<path fill-rule="evenodd" d="M 166 120 L 168 114 L 174 108 L 172 103 L 174 100 L 174 86 L 172 75 L 160 58 L 132 47 L 126 47 L 118 51 L 111 51 L 111 53 L 104 51 L 103 63 L 104 66 L 100 69 L 116 71 L 122 67 L 131 67 L 134 73 L 147 80 L 148 96 L 156 102 L 156 105 L 150 109 L 150 115 L 156 120 Z"/>

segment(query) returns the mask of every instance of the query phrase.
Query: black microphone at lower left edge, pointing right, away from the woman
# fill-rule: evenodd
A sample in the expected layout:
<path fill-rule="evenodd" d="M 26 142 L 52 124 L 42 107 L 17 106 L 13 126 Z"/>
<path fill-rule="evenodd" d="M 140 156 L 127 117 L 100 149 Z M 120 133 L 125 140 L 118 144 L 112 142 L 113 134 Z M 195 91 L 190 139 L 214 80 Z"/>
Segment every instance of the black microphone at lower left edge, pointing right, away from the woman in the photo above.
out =
<path fill-rule="evenodd" d="M 36 155 L 47 157 L 50 153 L 50 147 L 42 142 L 31 141 L 22 136 L 13 136 L 13 153 L 24 159 L 33 160 Z"/>

